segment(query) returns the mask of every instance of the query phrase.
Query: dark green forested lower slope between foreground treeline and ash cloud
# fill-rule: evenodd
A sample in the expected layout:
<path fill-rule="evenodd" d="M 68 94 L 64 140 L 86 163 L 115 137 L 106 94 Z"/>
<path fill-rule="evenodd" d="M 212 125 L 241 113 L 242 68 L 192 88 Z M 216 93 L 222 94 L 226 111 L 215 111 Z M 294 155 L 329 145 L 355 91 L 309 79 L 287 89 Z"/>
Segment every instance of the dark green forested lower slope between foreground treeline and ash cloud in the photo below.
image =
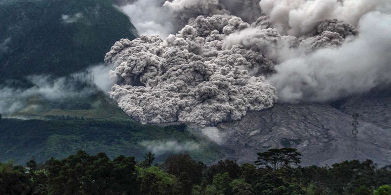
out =
<path fill-rule="evenodd" d="M 148 152 L 143 140 L 193 141 L 198 150 L 189 151 L 198 160 L 210 163 L 225 155 L 222 148 L 202 136 L 187 130 L 177 130 L 180 125 L 160 127 L 142 125 L 129 120 L 0 120 L 0 161 L 18 159 L 25 164 L 35 156 L 44 162 L 51 156 L 65 158 L 85 150 L 90 154 L 106 152 L 109 157 L 132 155 L 138 160 Z M 169 154 L 169 153 L 167 153 Z M 161 162 L 166 155 L 155 156 Z"/>

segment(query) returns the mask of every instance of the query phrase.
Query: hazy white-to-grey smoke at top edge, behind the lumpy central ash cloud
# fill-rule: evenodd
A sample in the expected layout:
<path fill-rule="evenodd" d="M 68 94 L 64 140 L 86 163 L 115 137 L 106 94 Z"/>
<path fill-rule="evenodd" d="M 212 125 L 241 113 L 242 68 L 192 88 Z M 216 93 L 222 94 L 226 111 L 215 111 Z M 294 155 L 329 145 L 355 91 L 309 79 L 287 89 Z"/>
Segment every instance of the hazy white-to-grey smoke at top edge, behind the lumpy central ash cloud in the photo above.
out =
<path fill-rule="evenodd" d="M 253 22 L 261 16 L 259 0 L 136 0 L 121 6 L 140 34 L 167 37 L 199 15 L 236 15 Z"/>

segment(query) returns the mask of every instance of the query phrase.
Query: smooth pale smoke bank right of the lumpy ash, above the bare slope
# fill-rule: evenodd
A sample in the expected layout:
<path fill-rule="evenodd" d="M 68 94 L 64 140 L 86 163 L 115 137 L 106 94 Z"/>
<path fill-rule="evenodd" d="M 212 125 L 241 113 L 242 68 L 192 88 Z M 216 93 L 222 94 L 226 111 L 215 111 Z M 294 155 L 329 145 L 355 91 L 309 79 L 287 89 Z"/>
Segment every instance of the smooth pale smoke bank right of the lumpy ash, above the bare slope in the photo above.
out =
<path fill-rule="evenodd" d="M 371 12 L 356 38 L 276 65 L 269 78 L 281 101 L 328 101 L 391 83 L 391 15 Z"/>

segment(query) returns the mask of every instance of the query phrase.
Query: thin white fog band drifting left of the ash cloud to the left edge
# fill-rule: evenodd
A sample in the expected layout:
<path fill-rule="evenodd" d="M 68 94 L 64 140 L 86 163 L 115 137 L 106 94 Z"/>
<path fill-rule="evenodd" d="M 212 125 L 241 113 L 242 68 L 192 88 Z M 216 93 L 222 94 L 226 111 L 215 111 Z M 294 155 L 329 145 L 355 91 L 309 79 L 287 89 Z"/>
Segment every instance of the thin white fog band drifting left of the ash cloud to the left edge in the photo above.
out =
<path fill-rule="evenodd" d="M 30 88 L 0 85 L 0 114 L 37 108 L 37 105 L 29 102 L 32 97 L 54 101 L 88 96 L 97 90 L 107 93 L 115 82 L 107 74 L 111 68 L 112 66 L 99 64 L 85 71 L 59 78 L 50 75 L 31 75 L 27 77 L 27 80 L 33 84 Z"/>

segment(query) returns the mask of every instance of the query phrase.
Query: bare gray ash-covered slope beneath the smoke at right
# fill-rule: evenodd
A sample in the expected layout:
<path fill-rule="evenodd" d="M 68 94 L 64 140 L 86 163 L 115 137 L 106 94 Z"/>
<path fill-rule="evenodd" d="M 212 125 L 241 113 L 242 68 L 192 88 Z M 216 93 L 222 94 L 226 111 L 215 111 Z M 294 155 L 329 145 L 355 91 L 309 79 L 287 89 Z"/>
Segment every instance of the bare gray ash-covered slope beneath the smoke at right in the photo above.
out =
<path fill-rule="evenodd" d="M 389 105 L 389 101 L 383 104 Z M 372 105 L 376 106 L 366 104 L 368 110 Z M 389 111 L 388 106 L 377 115 L 389 115 Z M 295 147 L 302 153 L 302 165 L 348 159 L 391 164 L 391 124 L 378 125 L 360 117 L 355 156 L 352 120 L 350 114 L 329 104 L 275 104 L 271 109 L 250 111 L 242 120 L 223 123 L 218 128 L 226 133 L 223 146 L 230 150 L 229 158 L 239 162 L 254 161 L 257 152 L 268 148 Z"/>

